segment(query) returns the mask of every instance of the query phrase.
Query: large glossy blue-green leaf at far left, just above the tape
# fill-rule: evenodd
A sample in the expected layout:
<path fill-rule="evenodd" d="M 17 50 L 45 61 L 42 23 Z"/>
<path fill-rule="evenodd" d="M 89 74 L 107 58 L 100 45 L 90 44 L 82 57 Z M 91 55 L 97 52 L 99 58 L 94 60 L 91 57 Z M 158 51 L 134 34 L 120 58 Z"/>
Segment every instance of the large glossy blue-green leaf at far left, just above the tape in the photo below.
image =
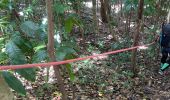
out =
<path fill-rule="evenodd" d="M 13 41 L 6 44 L 6 53 L 9 56 L 10 63 L 13 65 L 27 63 L 25 55 Z"/>

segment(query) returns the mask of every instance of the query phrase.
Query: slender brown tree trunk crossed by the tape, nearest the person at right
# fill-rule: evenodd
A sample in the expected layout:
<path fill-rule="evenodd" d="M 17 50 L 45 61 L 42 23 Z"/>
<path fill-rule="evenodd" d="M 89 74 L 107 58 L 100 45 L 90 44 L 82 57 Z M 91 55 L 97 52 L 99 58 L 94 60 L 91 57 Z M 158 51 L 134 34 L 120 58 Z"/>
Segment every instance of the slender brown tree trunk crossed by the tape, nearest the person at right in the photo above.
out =
<path fill-rule="evenodd" d="M 134 35 L 134 42 L 133 46 L 138 45 L 138 40 L 139 40 L 139 33 L 141 31 L 141 26 L 142 26 L 142 15 L 143 15 L 143 6 L 144 6 L 144 0 L 139 0 L 139 7 L 138 7 L 138 19 L 137 19 L 137 28 L 136 28 L 136 34 Z M 132 51 L 132 68 L 133 68 L 133 73 L 134 77 L 137 76 L 137 67 L 136 67 L 136 55 L 137 55 L 137 49 L 134 49 Z"/>

